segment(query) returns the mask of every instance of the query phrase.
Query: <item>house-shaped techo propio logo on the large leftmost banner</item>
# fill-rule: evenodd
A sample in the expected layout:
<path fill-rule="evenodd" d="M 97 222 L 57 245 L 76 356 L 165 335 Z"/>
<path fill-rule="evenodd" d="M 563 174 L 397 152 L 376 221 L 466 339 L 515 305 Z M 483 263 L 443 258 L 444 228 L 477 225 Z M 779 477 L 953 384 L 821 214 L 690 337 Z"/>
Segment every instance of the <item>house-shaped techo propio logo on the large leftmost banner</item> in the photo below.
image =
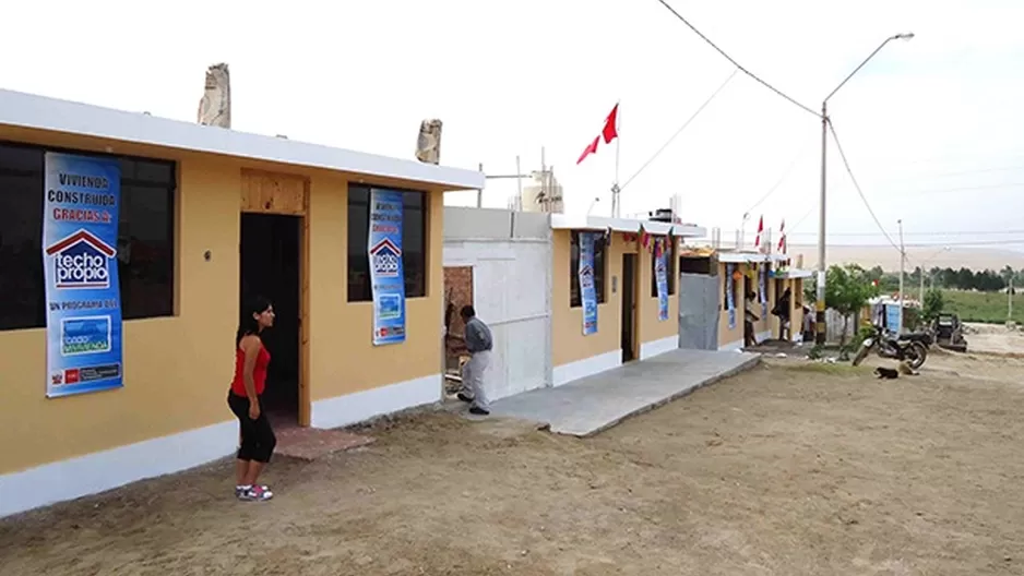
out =
<path fill-rule="evenodd" d="M 68 288 L 109 288 L 110 259 L 117 251 L 93 236 L 79 230 L 46 249 L 53 262 L 55 286 Z"/>

